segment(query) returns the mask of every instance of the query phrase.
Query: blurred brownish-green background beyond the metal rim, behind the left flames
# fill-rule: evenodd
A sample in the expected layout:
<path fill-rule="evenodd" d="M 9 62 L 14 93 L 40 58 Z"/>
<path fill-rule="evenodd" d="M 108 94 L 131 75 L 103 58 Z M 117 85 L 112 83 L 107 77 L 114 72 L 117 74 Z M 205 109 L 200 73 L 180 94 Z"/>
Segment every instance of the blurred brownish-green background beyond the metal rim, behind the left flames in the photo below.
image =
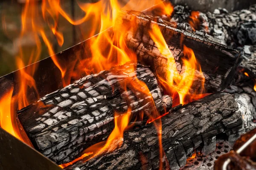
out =
<path fill-rule="evenodd" d="M 19 46 L 23 49 L 23 62 L 26 66 L 29 63 L 29 56 L 31 55 L 31 49 L 35 48 L 35 40 L 32 35 L 26 34 L 20 39 L 21 30 L 21 13 L 25 6 L 23 2 L 25 0 L 0 0 L 0 14 L 1 14 L 1 26 L 0 26 L 0 76 L 6 75 L 15 71 L 17 62 L 15 58 L 20 54 Z M 79 0 L 81 3 L 94 3 L 96 0 Z M 38 6 L 41 7 L 41 1 L 38 0 Z M 82 11 L 76 0 L 61 0 L 61 7 L 70 15 L 74 20 L 84 17 L 85 13 Z M 27 18 L 28 20 L 30 18 Z M 61 15 L 58 19 L 58 31 L 63 33 L 64 43 L 62 46 L 58 46 L 56 37 L 49 29 L 47 22 L 42 22 L 44 30 L 52 43 L 54 52 L 60 52 L 67 49 L 85 39 L 87 35 L 82 35 L 81 32 L 88 32 L 90 30 L 90 22 L 82 23 L 79 26 L 73 26 Z M 45 46 L 42 38 L 41 40 L 41 55 L 38 60 L 44 59 L 49 56 L 47 47 Z"/>

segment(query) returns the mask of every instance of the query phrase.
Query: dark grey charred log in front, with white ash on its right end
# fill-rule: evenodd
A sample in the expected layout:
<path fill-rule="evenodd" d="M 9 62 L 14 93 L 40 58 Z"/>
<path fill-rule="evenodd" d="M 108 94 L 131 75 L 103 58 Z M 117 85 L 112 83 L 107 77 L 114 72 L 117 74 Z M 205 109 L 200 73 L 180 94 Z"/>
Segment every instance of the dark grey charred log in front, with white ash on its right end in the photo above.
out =
<path fill-rule="evenodd" d="M 239 134 L 244 133 L 244 113 L 241 110 L 248 107 L 247 105 L 247 102 L 239 104 L 236 95 L 216 93 L 172 108 L 168 115 L 161 118 L 162 145 L 165 152 L 165 157 L 161 160 L 163 166 L 179 170 L 185 166 L 186 157 L 195 148 L 201 146 L 207 154 L 215 150 L 218 138 L 234 142 Z M 124 134 L 122 147 L 113 153 L 105 153 L 86 162 L 78 161 L 67 167 L 67 170 L 158 169 L 160 162 L 157 130 L 152 124 L 135 129 L 136 131 Z"/>

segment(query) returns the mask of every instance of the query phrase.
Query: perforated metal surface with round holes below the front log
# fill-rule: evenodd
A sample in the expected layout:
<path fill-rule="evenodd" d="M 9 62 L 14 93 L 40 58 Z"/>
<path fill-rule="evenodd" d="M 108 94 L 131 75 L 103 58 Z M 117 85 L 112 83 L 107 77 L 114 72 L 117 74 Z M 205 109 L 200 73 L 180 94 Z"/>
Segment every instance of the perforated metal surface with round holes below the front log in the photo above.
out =
<path fill-rule="evenodd" d="M 229 144 L 227 141 L 220 142 L 216 145 L 216 150 L 208 156 L 197 154 L 194 159 L 187 161 L 183 170 L 213 170 L 214 162 L 218 157 L 230 152 L 232 148 L 233 144 Z"/>

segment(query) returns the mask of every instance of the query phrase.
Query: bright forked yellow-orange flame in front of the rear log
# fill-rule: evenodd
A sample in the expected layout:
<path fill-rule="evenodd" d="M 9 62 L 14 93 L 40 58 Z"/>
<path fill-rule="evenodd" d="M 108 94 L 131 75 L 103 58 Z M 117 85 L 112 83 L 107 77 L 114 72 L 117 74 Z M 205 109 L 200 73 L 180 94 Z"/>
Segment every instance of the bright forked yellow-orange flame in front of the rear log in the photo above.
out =
<path fill-rule="evenodd" d="M 160 78 L 160 83 L 172 93 L 172 97 L 175 99 L 178 94 L 180 102 L 177 104 L 186 104 L 193 101 L 195 98 L 201 98 L 204 90 L 204 75 L 201 71 L 200 64 L 196 61 L 195 54 L 192 49 L 183 45 L 183 66 L 182 72 L 178 72 L 175 59 L 169 49 L 166 41 L 161 33 L 160 28 L 154 25 L 152 30 L 149 31 L 149 35 L 156 44 L 160 53 L 168 59 L 166 77 Z M 198 78 L 200 86 L 192 87 L 194 80 Z M 193 88 L 198 95 L 189 95 L 189 90 Z M 177 105 L 175 104 L 175 105 Z"/>

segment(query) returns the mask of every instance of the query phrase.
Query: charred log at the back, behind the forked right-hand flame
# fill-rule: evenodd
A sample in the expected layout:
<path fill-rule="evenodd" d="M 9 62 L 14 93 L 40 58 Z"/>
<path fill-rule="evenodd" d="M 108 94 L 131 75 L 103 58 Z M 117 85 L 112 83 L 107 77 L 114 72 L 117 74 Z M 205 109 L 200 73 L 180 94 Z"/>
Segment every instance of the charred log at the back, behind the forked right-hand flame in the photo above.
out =
<path fill-rule="evenodd" d="M 164 79 L 166 70 L 171 68 L 168 66 L 168 56 L 159 52 L 148 31 L 156 24 L 160 27 L 180 73 L 185 70 L 182 61 L 184 58 L 183 44 L 193 49 L 195 57 L 201 65 L 205 83 L 202 88 L 202 74 L 197 70 L 189 94 L 197 94 L 202 91 L 211 93 L 225 89 L 233 78 L 234 70 L 241 62 L 238 51 L 191 32 L 174 28 L 172 23 L 163 21 L 160 17 L 152 17 L 135 11 L 120 11 L 119 24 L 135 25 L 136 28 L 131 26 L 127 34 L 128 47 L 137 53 L 138 61 L 151 66 L 151 69 Z"/>

